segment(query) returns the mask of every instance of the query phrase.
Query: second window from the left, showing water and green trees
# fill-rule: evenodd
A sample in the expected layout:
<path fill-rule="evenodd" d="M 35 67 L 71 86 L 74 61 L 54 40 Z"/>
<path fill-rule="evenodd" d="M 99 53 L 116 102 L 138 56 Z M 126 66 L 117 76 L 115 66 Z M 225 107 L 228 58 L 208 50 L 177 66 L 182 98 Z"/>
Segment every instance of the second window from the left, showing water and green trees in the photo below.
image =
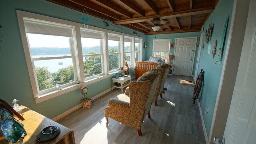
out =
<path fill-rule="evenodd" d="M 81 43 L 84 77 L 90 79 L 90 77 L 93 77 L 94 75 L 103 75 L 103 32 L 88 29 L 81 30 Z"/>

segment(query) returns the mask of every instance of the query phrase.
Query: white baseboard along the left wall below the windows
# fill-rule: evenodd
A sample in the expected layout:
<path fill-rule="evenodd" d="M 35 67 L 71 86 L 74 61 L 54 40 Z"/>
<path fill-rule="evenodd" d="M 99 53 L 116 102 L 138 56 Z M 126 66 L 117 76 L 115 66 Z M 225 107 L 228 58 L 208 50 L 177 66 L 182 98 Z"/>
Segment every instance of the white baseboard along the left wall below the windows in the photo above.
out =
<path fill-rule="evenodd" d="M 102 93 L 99 93 L 98 95 L 92 97 L 92 98 L 91 98 L 91 101 L 97 99 L 98 97 L 101 97 L 102 95 L 104 95 L 104 94 L 110 92 L 111 90 L 112 90 L 112 88 L 107 89 L 106 91 L 103 91 Z M 54 120 L 54 121 L 59 120 L 60 118 L 66 116 L 66 115 L 68 115 L 68 114 L 70 114 L 71 112 L 77 110 L 77 109 L 80 108 L 80 107 L 82 107 L 82 103 L 79 104 L 79 105 L 77 105 L 77 106 L 75 106 L 75 107 L 73 107 L 73 108 L 71 108 L 71 109 L 69 109 L 69 110 L 67 110 L 67 111 L 65 111 L 65 112 L 63 112 L 62 114 L 60 114 L 60 115 L 58 115 L 58 116 L 52 118 L 52 120 Z"/>

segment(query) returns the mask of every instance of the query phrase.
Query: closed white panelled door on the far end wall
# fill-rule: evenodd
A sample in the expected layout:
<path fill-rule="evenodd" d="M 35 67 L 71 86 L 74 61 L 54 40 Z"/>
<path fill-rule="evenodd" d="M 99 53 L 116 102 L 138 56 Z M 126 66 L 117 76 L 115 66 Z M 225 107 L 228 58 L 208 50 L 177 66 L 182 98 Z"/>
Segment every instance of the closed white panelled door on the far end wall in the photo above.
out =
<path fill-rule="evenodd" d="M 176 38 L 174 75 L 192 75 L 197 37 Z"/>

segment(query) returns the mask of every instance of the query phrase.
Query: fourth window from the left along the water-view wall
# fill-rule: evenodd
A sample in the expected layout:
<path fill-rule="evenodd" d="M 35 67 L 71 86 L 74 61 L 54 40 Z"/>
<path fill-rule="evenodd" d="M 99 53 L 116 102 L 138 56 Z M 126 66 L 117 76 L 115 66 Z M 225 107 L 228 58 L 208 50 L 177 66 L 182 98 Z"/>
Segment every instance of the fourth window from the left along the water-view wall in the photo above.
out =
<path fill-rule="evenodd" d="M 132 37 L 124 37 L 124 60 L 127 61 L 128 66 L 132 65 Z"/>

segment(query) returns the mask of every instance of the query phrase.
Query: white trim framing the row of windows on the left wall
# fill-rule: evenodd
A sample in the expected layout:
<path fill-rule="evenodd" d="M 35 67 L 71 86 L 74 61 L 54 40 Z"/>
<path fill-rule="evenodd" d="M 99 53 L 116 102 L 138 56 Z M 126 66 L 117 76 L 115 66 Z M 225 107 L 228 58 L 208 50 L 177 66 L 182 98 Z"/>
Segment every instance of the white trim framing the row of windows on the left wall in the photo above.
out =
<path fill-rule="evenodd" d="M 18 24 L 19 24 L 19 28 L 20 28 L 20 35 L 21 35 L 21 39 L 22 39 L 22 44 L 23 44 L 23 48 L 24 48 L 24 53 L 25 53 L 25 57 L 26 57 L 26 63 L 27 63 L 27 67 L 28 67 L 28 74 L 30 76 L 30 82 L 31 82 L 31 87 L 32 87 L 32 91 L 33 91 L 33 95 L 34 95 L 34 99 L 35 99 L 35 103 L 40 103 L 40 102 L 43 102 L 43 101 L 46 101 L 48 99 L 51 99 L 51 98 L 54 98 L 54 97 L 57 97 L 59 95 L 62 95 L 64 93 L 68 93 L 70 91 L 73 91 L 75 89 L 78 89 L 80 87 L 82 87 L 82 85 L 84 85 L 85 83 L 87 85 L 91 84 L 91 83 L 95 83 L 95 82 L 98 82 L 98 81 L 101 81 L 103 79 L 106 79 L 106 78 L 109 78 L 109 77 L 113 77 L 114 73 L 110 73 L 108 71 L 108 51 L 106 51 L 106 49 L 102 49 L 103 52 L 102 53 L 105 53 L 102 55 L 102 59 L 103 59 L 103 68 L 104 68 L 104 71 L 105 71 L 105 75 L 102 75 L 100 76 L 99 78 L 92 78 L 92 79 L 88 79 L 88 80 L 85 80 L 84 77 L 81 76 L 81 73 L 83 73 L 83 56 L 78 54 L 78 53 L 82 53 L 82 44 L 81 44 L 81 34 L 80 34 L 80 28 L 83 28 L 82 24 L 79 24 L 79 23 L 76 23 L 76 22 L 71 22 L 71 21 L 68 21 L 68 20 L 62 20 L 62 19 L 58 19 L 58 18 L 53 18 L 53 17 L 50 17 L 50 16 L 44 16 L 44 15 L 40 15 L 40 14 L 34 14 L 34 13 L 30 13 L 30 12 L 24 12 L 24 11 L 20 11 L 20 10 L 16 10 L 16 13 L 17 13 L 17 19 L 18 19 Z M 74 37 L 75 39 L 73 39 L 74 41 L 74 47 L 77 47 L 77 48 L 74 48 L 74 55 L 75 55 L 75 61 L 74 62 L 76 64 L 76 67 L 78 67 L 78 71 L 75 72 L 75 69 L 74 69 L 74 73 L 77 73 L 77 77 L 78 77 L 78 80 L 80 80 L 80 83 L 79 84 L 74 84 L 74 85 L 70 85 L 70 86 L 67 86 L 67 87 L 64 87 L 62 90 L 56 90 L 56 91 L 52 91 L 50 93 L 46 93 L 44 95 L 40 95 L 39 96 L 39 91 L 37 91 L 37 81 L 34 77 L 35 75 L 35 69 L 33 67 L 33 64 L 32 64 L 32 61 L 31 61 L 31 53 L 30 53 L 30 49 L 28 48 L 29 45 L 28 45 L 28 40 L 27 40 L 27 37 L 26 37 L 26 31 L 25 31 L 25 27 L 24 27 L 24 22 L 23 22 L 23 17 L 26 17 L 26 18 L 34 18 L 34 19 L 38 19 L 38 20 L 44 20 L 44 21 L 49 21 L 49 22 L 55 22 L 55 23 L 59 23 L 59 24 L 66 24 L 66 25 L 70 25 L 70 26 L 74 26 Z M 102 43 L 102 47 L 108 47 L 108 33 L 111 33 L 111 34 L 118 34 L 118 35 L 122 35 L 122 36 L 128 36 L 128 37 L 134 37 L 134 38 L 137 38 L 137 39 L 141 39 L 142 41 L 142 37 L 138 37 L 138 36 L 133 36 L 133 35 L 129 35 L 129 34 L 124 34 L 124 33 L 121 33 L 121 32 L 115 32 L 115 31 L 112 31 L 112 30 L 106 30 L 106 29 L 103 29 L 103 28 L 97 28 L 97 27 L 94 27 L 94 26 L 90 26 L 90 30 L 97 30 L 97 31 L 101 31 L 101 32 L 104 32 L 105 35 L 104 35 L 104 39 L 105 41 L 103 41 Z M 123 39 L 121 40 L 123 41 Z M 135 45 L 135 41 L 134 41 L 134 45 Z M 141 43 L 142 45 L 142 43 Z M 121 45 L 121 48 L 123 49 L 123 44 Z M 141 46 L 142 48 L 142 46 Z M 134 53 L 132 53 L 134 55 Z M 140 49 L 140 59 L 142 58 L 142 49 Z M 121 61 L 123 59 L 123 56 L 121 57 Z M 120 62 L 121 62 L 120 61 Z M 120 64 L 122 65 L 122 63 Z M 74 76 L 75 77 L 75 76 Z"/>

